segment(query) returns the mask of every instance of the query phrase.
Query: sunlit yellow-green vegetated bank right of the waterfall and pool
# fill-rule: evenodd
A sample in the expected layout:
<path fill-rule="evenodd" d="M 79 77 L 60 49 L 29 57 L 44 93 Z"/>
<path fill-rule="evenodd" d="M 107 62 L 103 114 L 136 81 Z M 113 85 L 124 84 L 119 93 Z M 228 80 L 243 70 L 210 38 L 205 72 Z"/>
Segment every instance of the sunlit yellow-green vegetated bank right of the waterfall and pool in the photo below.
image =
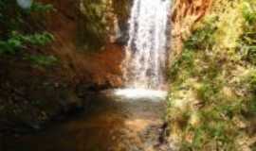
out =
<path fill-rule="evenodd" d="M 256 3 L 216 1 L 170 68 L 167 120 L 181 151 L 255 150 Z"/>

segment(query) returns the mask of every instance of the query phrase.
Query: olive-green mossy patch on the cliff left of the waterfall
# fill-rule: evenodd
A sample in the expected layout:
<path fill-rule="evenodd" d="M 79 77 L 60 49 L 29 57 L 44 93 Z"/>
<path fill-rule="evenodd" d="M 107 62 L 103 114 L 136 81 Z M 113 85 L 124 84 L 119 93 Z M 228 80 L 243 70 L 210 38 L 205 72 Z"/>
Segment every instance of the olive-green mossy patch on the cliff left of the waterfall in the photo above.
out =
<path fill-rule="evenodd" d="M 82 0 L 81 26 L 78 32 L 78 45 L 84 50 L 100 50 L 109 34 L 109 17 L 112 10 L 109 1 Z"/>

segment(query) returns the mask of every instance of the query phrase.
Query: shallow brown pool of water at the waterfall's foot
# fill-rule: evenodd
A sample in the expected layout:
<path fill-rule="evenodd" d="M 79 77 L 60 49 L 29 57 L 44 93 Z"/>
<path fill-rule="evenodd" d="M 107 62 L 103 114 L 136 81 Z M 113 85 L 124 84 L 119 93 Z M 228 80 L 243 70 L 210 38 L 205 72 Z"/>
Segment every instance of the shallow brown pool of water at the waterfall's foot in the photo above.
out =
<path fill-rule="evenodd" d="M 139 97 L 138 97 L 139 96 Z M 151 151 L 162 126 L 164 92 L 88 93 L 84 112 L 45 131 L 7 137 L 4 151 Z M 158 150 L 157 150 L 158 151 Z"/>

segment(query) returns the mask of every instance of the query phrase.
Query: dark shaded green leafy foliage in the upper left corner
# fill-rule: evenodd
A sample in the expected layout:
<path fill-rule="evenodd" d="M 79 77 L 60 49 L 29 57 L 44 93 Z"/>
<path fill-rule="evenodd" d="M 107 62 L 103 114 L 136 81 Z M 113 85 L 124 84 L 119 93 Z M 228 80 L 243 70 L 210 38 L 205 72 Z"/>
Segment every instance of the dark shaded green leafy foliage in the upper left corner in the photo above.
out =
<path fill-rule="evenodd" d="M 0 56 L 29 56 L 29 54 L 35 54 L 35 50 L 52 42 L 53 36 L 46 31 L 41 31 L 42 21 L 39 21 L 50 10 L 53 10 L 51 5 L 43 5 L 38 2 L 32 3 L 30 8 L 24 9 L 19 7 L 15 0 L 1 0 Z M 30 25 L 31 23 L 33 25 Z M 31 50 L 34 52 L 29 53 Z M 42 62 L 42 55 L 33 55 L 28 58 L 39 65 Z M 50 57 L 50 60 L 53 58 Z M 52 62 L 46 63 L 46 60 L 48 59 L 44 59 L 43 63 L 45 65 Z"/>

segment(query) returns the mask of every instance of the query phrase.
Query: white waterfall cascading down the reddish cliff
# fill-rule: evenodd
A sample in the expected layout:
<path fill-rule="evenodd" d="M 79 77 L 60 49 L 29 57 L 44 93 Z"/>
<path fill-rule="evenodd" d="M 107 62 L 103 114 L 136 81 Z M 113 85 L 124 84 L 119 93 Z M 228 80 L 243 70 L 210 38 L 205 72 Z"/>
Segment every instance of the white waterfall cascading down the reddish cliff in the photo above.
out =
<path fill-rule="evenodd" d="M 123 61 L 128 88 L 160 89 L 167 59 L 171 0 L 134 0 Z"/>

